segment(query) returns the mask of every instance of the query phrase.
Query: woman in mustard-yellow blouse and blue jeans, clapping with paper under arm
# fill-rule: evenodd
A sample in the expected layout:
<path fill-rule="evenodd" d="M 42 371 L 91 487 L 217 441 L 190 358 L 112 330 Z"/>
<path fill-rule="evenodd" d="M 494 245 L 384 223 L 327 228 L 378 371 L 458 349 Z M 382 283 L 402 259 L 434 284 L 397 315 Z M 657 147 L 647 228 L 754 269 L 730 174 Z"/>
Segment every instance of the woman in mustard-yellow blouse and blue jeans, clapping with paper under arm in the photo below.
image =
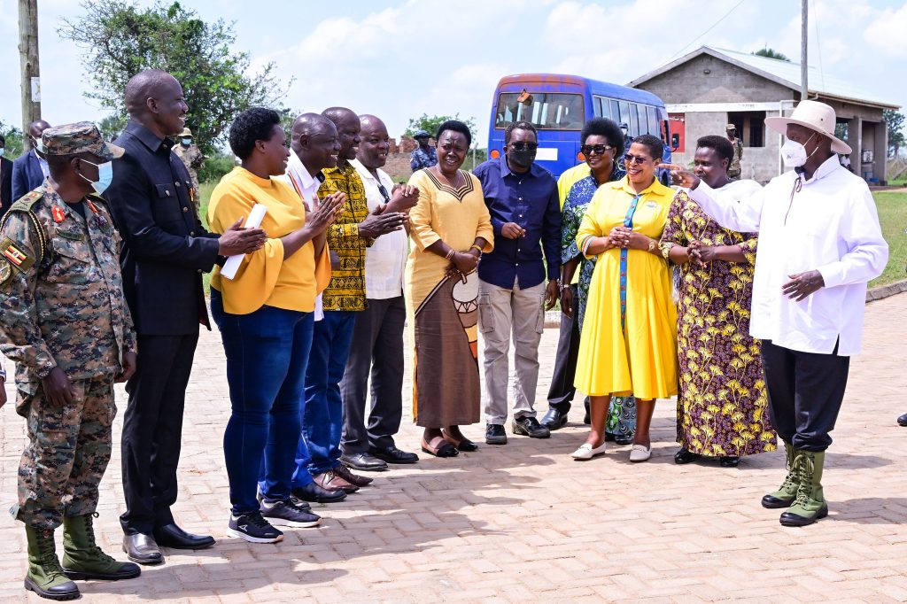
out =
<path fill-rule="evenodd" d="M 224 232 L 260 203 L 268 209 L 261 222 L 268 240 L 243 258 L 234 278 L 222 277 L 219 268 L 211 277 L 211 315 L 227 354 L 232 405 L 224 432 L 232 503 L 227 533 L 272 543 L 283 539 L 272 524 L 320 522 L 290 497 L 290 482 L 315 297 L 330 278 L 325 229 L 345 196 L 336 193 L 321 200 L 307 216 L 297 193 L 271 178 L 284 173 L 289 156 L 277 112 L 253 108 L 240 113 L 230 126 L 229 144 L 242 165 L 224 176 L 211 194 L 211 231 Z"/>

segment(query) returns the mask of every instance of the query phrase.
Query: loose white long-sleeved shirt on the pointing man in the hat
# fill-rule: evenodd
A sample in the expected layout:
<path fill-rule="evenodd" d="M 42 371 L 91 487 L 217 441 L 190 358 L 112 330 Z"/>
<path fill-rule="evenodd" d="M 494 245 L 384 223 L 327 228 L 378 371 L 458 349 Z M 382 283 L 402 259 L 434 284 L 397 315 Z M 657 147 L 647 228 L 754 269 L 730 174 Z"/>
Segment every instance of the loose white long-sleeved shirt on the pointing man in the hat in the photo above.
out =
<path fill-rule="evenodd" d="M 798 185 L 799 181 L 799 187 Z M 803 180 L 795 171 L 736 201 L 717 200 L 705 182 L 689 190 L 727 229 L 759 233 L 749 331 L 776 346 L 839 356 L 860 352 L 866 283 L 888 261 L 873 196 L 836 155 Z M 800 302 L 781 287 L 791 275 L 818 270 L 824 287 Z"/>

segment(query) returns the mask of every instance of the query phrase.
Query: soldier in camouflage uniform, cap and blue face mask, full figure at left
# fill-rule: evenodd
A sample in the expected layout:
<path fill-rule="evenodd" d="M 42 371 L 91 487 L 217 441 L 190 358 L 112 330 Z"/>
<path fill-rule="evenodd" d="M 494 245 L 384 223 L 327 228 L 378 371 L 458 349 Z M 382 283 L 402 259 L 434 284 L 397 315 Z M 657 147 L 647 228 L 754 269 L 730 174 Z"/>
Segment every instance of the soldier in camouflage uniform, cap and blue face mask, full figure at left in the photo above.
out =
<path fill-rule="evenodd" d="M 74 599 L 72 580 L 131 579 L 94 542 L 98 484 L 111 456 L 113 383 L 135 371 L 122 293 L 120 236 L 96 195 L 122 149 L 91 122 L 42 135 L 50 176 L 0 225 L 0 349 L 16 363 L 16 413 L 27 422 L 19 501 L 28 537 L 25 588 Z M 63 564 L 54 530 L 63 524 Z"/>

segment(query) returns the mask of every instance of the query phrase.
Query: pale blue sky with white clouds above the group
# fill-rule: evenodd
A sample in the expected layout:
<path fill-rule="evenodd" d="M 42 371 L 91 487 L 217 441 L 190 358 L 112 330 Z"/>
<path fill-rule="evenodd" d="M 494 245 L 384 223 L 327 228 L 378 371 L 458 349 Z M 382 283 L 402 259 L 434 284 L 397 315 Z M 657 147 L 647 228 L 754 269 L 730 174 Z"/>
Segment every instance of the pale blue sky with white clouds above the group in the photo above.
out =
<path fill-rule="evenodd" d="M 38 4 L 44 119 L 100 120 L 106 112 L 83 96 L 90 84 L 80 49 L 56 34 L 60 20 L 81 9 L 74 0 Z M 743 52 L 768 45 L 796 61 L 800 54 L 795 0 L 181 4 L 205 20 L 236 21 L 235 48 L 251 54 L 253 70 L 274 61 L 287 81 L 295 76 L 284 100 L 288 107 L 321 111 L 345 105 L 375 113 L 392 136 L 422 113 L 459 112 L 476 119 L 481 146 L 494 85 L 505 74 L 574 73 L 627 83 L 703 44 Z M 810 63 L 907 105 L 907 3 L 810 0 L 810 5 Z M 0 120 L 16 124 L 21 115 L 17 32 L 16 0 L 0 0 L 0 82 L 9 86 L 0 95 Z"/>

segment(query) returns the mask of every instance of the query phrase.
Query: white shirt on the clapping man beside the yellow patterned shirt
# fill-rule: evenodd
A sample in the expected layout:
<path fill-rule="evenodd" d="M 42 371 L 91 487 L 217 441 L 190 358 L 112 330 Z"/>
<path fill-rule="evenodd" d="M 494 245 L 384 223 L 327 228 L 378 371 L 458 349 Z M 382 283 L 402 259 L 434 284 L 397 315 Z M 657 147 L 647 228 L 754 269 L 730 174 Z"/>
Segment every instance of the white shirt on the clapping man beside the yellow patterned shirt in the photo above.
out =
<path fill-rule="evenodd" d="M 368 211 L 373 212 L 383 203 L 384 195 L 378 190 L 378 180 L 358 160 L 350 161 L 362 178 L 366 188 Z M 394 181 L 384 170 L 375 170 L 384 186 L 387 195 L 394 189 Z M 366 298 L 384 300 L 389 297 L 403 296 L 403 274 L 406 265 L 408 243 L 404 229 L 382 235 L 375 239 L 371 248 L 366 249 Z"/>

